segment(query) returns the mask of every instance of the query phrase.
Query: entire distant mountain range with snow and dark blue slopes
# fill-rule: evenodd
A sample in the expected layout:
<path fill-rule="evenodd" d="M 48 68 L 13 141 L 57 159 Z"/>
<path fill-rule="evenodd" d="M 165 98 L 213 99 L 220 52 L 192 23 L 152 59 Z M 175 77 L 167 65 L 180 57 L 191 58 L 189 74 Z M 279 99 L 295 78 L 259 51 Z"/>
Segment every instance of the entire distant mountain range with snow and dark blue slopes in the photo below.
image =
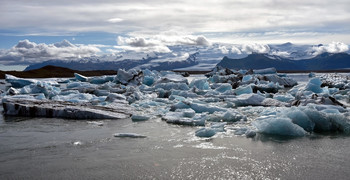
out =
<path fill-rule="evenodd" d="M 25 71 L 52 65 L 73 70 L 150 70 L 209 71 L 216 65 L 233 69 L 336 70 L 350 68 L 350 51 L 328 52 L 327 46 L 228 45 L 169 46 L 167 53 L 122 52 L 79 59 L 54 59 L 29 65 Z M 334 50 L 333 50 L 334 51 Z M 331 53 L 332 52 L 332 53 Z"/>

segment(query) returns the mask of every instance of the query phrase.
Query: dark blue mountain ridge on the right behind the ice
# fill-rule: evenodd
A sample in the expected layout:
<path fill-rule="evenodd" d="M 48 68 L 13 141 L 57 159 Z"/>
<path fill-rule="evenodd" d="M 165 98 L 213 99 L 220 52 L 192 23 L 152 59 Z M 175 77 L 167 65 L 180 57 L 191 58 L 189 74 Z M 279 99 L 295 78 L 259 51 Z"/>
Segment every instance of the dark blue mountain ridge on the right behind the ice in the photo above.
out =
<path fill-rule="evenodd" d="M 311 59 L 290 60 L 266 54 L 251 54 L 242 59 L 224 57 L 217 66 L 230 69 L 263 69 L 275 67 L 277 70 L 337 70 L 350 68 L 347 53 L 323 53 Z"/>

